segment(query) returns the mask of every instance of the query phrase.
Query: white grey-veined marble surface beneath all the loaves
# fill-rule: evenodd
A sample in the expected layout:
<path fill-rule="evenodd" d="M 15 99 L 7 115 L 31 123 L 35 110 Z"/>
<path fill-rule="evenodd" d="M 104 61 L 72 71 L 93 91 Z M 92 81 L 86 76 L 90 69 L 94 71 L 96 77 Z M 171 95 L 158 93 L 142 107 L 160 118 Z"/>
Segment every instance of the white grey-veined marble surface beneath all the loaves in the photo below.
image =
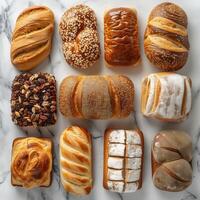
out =
<path fill-rule="evenodd" d="M 144 118 L 140 113 L 140 85 L 141 79 L 149 73 L 157 71 L 149 64 L 143 53 L 143 33 L 146 19 L 151 9 L 161 0 L 0 0 L 0 199 L 1 200 L 196 200 L 200 199 L 200 3 L 199 0 L 174 0 L 180 4 L 188 14 L 189 35 L 191 51 L 187 65 L 178 73 L 188 75 L 193 81 L 193 104 L 192 112 L 183 123 L 171 124 L 161 123 Z M 139 15 L 140 40 L 142 64 L 136 69 L 111 70 L 107 69 L 103 62 L 103 56 L 93 68 L 80 71 L 68 66 L 65 62 L 61 41 L 58 34 L 58 22 L 65 9 L 85 3 L 92 7 L 98 19 L 99 32 L 101 38 L 101 49 L 103 55 L 103 13 L 106 9 L 117 6 L 136 7 Z M 122 73 L 128 75 L 135 83 L 135 114 L 124 120 L 67 120 L 61 114 L 58 114 L 58 122 L 54 127 L 26 129 L 21 130 L 16 127 L 10 117 L 10 93 L 11 83 L 19 72 L 10 62 L 10 39 L 19 13 L 31 5 L 46 5 L 54 11 L 56 20 L 56 30 L 54 34 L 53 50 L 49 58 L 44 61 L 35 71 L 51 72 L 55 75 L 58 85 L 61 80 L 71 74 L 116 74 Z M 145 167 L 143 188 L 132 194 L 117 194 L 107 192 L 102 186 L 102 166 L 103 166 L 103 133 L 108 126 L 120 128 L 132 128 L 135 124 L 144 132 L 145 137 Z M 94 187 L 91 194 L 87 197 L 78 198 L 65 193 L 62 190 L 59 180 L 58 166 L 58 138 L 64 128 L 69 125 L 82 125 L 92 133 L 94 144 Z M 151 161 L 150 147 L 151 141 L 156 132 L 161 129 L 176 128 L 187 131 L 193 138 L 194 143 L 194 161 L 193 161 L 193 184 L 184 192 L 169 193 L 157 190 L 151 180 Z M 51 137 L 54 140 L 54 168 L 53 182 L 49 188 L 39 188 L 34 190 L 25 190 L 12 187 L 10 183 L 10 159 L 11 144 L 14 138 L 19 136 L 42 135 Z"/>

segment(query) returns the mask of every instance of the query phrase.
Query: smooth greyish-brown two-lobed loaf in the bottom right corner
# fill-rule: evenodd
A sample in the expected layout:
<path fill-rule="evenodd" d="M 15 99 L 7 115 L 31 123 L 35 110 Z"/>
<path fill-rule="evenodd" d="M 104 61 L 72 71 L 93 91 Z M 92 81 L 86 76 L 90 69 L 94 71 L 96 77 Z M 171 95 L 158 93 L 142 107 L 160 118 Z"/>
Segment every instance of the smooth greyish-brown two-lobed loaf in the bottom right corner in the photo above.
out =
<path fill-rule="evenodd" d="M 154 185 L 170 192 L 179 192 L 192 183 L 192 140 L 182 131 L 158 133 L 152 144 Z"/>

